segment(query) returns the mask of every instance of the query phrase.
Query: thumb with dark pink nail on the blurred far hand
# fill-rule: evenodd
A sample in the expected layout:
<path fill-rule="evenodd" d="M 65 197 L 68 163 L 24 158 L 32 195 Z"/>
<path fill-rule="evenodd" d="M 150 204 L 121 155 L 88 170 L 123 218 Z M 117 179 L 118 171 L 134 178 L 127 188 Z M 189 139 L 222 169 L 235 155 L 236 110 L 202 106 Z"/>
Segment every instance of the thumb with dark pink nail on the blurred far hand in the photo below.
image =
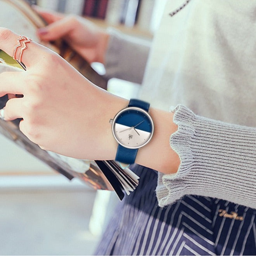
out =
<path fill-rule="evenodd" d="M 64 19 L 53 22 L 50 25 L 38 29 L 38 36 L 41 40 L 51 41 L 67 35 L 75 26 L 73 17 L 67 16 Z"/>

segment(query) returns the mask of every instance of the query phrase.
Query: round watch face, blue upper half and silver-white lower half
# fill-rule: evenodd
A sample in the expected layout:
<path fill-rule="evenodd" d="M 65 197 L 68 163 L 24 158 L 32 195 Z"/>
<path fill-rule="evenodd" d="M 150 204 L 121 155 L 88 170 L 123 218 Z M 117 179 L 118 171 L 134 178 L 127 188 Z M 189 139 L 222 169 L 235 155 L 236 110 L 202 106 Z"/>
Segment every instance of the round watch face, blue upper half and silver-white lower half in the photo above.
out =
<path fill-rule="evenodd" d="M 123 147 L 138 149 L 151 140 L 154 123 L 147 111 L 138 107 L 127 107 L 114 117 L 112 132 Z"/>

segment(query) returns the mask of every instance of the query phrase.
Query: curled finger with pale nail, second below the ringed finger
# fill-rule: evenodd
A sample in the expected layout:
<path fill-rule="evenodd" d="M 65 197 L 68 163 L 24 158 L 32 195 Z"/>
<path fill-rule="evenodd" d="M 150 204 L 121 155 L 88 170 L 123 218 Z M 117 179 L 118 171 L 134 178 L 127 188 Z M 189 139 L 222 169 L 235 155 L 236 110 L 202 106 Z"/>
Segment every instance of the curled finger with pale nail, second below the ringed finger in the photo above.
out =
<path fill-rule="evenodd" d="M 22 118 L 22 98 L 10 99 L 6 102 L 4 108 L 5 121 L 11 121 Z"/>

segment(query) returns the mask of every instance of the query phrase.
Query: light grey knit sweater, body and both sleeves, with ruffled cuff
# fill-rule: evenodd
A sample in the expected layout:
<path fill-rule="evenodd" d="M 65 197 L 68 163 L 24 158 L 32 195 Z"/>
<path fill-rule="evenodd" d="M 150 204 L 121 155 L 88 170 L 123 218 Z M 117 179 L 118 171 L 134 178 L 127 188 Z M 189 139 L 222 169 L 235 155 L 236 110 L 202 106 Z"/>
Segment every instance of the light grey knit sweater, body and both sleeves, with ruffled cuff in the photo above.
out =
<path fill-rule="evenodd" d="M 170 146 L 181 164 L 159 173 L 159 206 L 192 194 L 256 208 L 256 4 L 192 0 L 168 16 L 182 2 L 168 1 L 152 47 L 111 30 L 106 76 L 142 83 L 151 106 L 178 104 Z"/>

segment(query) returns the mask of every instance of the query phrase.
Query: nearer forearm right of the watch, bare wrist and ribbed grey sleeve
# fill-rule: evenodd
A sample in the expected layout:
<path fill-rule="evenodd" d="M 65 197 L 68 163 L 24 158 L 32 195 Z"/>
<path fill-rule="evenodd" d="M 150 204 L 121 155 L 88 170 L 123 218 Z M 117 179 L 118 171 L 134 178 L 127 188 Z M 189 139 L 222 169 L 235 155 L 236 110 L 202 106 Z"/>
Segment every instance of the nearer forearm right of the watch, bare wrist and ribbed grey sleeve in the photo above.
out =
<path fill-rule="evenodd" d="M 201 195 L 256 208 L 256 128 L 203 118 L 183 106 L 150 108 L 150 115 L 155 133 L 136 163 L 159 171 L 160 206 Z M 108 129 L 114 159 L 117 144 Z"/>

